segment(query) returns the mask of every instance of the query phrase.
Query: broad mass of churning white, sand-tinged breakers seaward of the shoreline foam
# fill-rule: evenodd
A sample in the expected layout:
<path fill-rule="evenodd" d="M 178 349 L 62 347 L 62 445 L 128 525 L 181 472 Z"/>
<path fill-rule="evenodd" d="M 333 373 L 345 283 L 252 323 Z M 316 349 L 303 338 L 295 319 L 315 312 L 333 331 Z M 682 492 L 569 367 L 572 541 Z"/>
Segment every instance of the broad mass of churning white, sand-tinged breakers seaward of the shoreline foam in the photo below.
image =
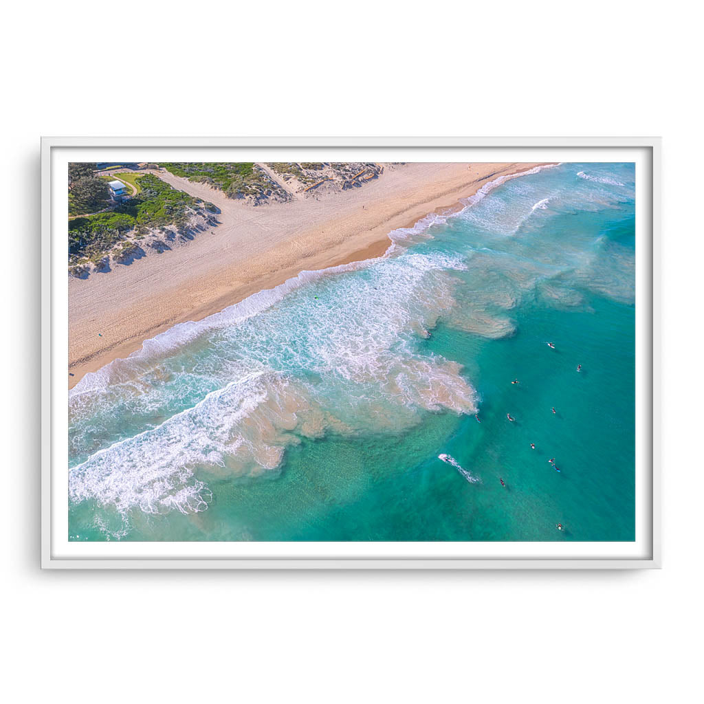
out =
<path fill-rule="evenodd" d="M 354 286 L 315 277 L 313 289 L 291 289 L 259 315 L 240 309 L 210 320 L 195 358 L 184 348 L 165 356 L 163 346 L 146 346 L 124 363 L 139 365 L 144 386 L 92 386 L 72 398 L 72 448 L 89 456 L 70 470 L 71 500 L 121 515 L 197 513 L 209 501 L 206 475 L 273 470 L 301 435 L 396 431 L 417 422 L 420 409 L 474 413 L 476 394 L 461 367 L 418 356 L 412 334 L 453 306 L 445 272 L 465 269 L 460 255 L 409 251 Z M 127 373 L 114 365 L 113 377 L 118 372 Z M 199 383 L 224 385 L 173 413 L 172 377 L 184 403 Z M 124 433 L 120 418 L 142 415 L 152 427 L 96 451 L 113 426 Z"/>

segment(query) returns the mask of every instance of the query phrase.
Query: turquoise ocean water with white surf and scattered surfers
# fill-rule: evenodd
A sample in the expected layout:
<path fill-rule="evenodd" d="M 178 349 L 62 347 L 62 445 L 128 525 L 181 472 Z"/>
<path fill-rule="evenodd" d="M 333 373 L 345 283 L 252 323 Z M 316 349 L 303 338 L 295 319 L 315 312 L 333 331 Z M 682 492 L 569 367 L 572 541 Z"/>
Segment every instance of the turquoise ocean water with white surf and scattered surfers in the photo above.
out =
<path fill-rule="evenodd" d="M 633 540 L 634 178 L 495 182 L 87 375 L 70 539 Z"/>

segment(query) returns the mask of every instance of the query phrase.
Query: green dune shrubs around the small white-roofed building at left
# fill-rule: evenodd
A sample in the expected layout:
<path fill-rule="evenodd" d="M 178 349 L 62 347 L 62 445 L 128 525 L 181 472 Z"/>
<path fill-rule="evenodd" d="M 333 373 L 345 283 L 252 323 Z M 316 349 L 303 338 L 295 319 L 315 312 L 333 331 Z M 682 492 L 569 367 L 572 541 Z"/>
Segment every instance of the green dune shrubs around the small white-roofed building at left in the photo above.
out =
<path fill-rule="evenodd" d="M 139 194 L 109 213 L 69 220 L 68 253 L 72 265 L 86 258 L 98 263 L 134 228 L 144 232 L 150 227 L 175 225 L 179 230 L 187 227 L 187 209 L 196 206 L 194 198 L 172 189 L 151 174 L 141 176 L 139 185 L 142 187 Z M 120 251 L 120 255 L 123 254 L 125 252 Z"/>

